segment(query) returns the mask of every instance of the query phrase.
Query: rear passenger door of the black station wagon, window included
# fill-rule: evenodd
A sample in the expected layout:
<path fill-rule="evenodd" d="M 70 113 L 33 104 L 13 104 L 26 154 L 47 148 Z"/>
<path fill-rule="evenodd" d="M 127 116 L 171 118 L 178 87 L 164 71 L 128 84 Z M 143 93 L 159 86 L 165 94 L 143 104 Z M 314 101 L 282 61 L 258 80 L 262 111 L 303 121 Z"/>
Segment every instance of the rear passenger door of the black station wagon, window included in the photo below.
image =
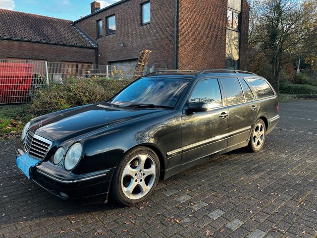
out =
<path fill-rule="evenodd" d="M 243 78 L 221 78 L 225 103 L 229 109 L 228 147 L 245 142 L 259 110 L 259 102 Z"/>

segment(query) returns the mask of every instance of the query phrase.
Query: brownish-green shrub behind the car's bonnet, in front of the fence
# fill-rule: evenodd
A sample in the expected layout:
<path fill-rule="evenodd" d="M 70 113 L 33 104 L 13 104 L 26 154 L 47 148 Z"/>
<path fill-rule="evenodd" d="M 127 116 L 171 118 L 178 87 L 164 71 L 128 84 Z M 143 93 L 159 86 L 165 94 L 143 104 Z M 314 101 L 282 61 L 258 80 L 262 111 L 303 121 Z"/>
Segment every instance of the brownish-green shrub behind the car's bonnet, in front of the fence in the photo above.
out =
<path fill-rule="evenodd" d="M 106 101 L 132 80 L 108 80 L 105 78 L 64 79 L 39 89 L 29 107 L 29 112 L 38 117 L 59 110 L 85 104 Z"/>

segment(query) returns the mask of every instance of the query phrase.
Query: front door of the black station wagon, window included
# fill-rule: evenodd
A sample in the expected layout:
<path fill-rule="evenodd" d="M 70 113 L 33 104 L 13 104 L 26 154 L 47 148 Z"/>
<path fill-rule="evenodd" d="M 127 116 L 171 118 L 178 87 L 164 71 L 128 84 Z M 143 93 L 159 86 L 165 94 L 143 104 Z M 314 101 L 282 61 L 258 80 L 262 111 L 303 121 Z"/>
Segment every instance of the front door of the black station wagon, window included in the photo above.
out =
<path fill-rule="evenodd" d="M 207 112 L 182 115 L 182 164 L 200 159 L 227 147 L 228 108 L 223 107 L 218 79 L 204 79 L 197 83 L 189 102 L 205 102 Z"/>

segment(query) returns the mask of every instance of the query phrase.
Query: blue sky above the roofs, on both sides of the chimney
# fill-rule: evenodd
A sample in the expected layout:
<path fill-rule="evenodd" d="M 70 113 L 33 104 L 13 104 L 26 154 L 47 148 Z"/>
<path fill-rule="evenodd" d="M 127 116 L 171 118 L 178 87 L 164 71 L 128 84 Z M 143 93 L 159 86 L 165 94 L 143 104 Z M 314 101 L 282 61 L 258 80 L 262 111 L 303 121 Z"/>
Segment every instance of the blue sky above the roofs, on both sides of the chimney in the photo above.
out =
<path fill-rule="evenodd" d="M 67 20 L 90 14 L 93 0 L 0 0 L 0 8 L 23 11 Z M 97 0 L 104 8 L 119 0 Z"/>

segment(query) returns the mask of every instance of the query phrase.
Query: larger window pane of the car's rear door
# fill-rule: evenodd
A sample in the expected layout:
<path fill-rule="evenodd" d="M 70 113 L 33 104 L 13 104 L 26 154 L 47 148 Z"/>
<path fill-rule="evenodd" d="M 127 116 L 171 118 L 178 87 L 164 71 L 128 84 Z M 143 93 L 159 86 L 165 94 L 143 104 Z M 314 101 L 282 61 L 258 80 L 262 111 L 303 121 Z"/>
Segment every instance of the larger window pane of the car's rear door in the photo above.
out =
<path fill-rule="evenodd" d="M 227 105 L 244 102 L 243 92 L 237 78 L 222 78 Z"/>

